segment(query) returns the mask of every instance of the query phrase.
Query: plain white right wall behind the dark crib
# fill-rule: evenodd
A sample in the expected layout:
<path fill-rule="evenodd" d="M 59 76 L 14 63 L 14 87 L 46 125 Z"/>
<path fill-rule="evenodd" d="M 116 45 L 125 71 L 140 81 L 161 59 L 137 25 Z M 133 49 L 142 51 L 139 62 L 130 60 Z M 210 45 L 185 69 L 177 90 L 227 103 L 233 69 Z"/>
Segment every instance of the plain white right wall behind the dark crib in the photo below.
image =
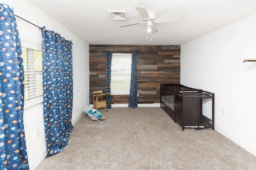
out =
<path fill-rule="evenodd" d="M 215 93 L 215 130 L 256 156 L 256 62 L 243 63 L 252 58 L 256 14 L 183 44 L 180 82 Z"/>

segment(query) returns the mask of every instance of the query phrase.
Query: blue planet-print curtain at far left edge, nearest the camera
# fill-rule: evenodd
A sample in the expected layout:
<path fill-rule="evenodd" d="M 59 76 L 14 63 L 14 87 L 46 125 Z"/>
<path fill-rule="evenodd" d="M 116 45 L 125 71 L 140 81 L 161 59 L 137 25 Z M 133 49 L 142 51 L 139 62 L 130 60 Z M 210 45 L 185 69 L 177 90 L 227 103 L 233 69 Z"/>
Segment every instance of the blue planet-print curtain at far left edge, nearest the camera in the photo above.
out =
<path fill-rule="evenodd" d="M 0 4 L 0 169 L 25 170 L 24 69 L 14 10 Z"/>

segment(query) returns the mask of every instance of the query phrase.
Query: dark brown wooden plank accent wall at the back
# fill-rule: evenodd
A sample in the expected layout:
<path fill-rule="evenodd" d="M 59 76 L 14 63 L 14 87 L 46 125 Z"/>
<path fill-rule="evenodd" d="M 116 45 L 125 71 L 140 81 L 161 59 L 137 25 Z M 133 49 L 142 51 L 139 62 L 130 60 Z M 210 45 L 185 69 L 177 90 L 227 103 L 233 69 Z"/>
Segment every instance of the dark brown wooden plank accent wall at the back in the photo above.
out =
<path fill-rule="evenodd" d="M 160 84 L 180 83 L 180 45 L 90 45 L 92 91 L 106 92 L 106 51 L 137 52 L 138 104 L 160 103 Z M 128 104 L 129 95 L 112 95 L 112 104 Z"/>

